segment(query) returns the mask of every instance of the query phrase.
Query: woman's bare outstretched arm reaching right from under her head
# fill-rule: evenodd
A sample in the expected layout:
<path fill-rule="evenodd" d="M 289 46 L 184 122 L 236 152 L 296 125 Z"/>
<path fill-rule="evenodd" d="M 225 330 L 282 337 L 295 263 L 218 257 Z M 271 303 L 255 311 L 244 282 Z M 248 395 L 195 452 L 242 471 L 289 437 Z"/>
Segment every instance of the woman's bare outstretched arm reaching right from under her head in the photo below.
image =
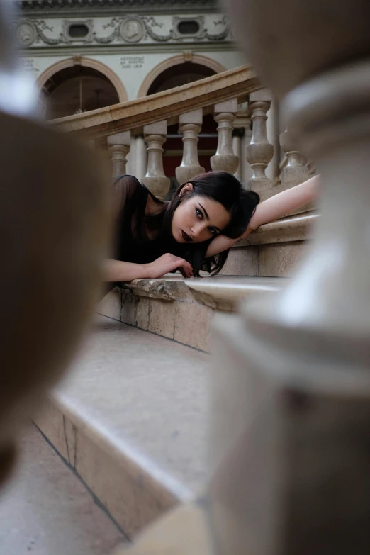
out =
<path fill-rule="evenodd" d="M 285 215 L 315 200 L 318 197 L 319 182 L 320 176 L 315 175 L 300 185 L 267 198 L 267 201 L 257 206 L 247 229 L 240 237 L 230 239 L 225 235 L 218 235 L 209 245 L 206 257 L 213 257 L 219 252 L 230 249 L 236 242 L 250 235 L 250 232 L 257 230 L 260 225 L 279 220 L 279 218 L 283 218 Z"/>

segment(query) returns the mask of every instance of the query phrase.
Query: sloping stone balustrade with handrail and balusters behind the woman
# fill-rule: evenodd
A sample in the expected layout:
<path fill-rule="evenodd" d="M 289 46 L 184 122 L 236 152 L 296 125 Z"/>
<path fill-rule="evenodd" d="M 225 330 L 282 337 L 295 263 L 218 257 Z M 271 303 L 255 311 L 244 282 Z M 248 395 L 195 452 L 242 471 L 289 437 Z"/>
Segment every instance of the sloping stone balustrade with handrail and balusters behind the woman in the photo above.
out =
<path fill-rule="evenodd" d="M 267 137 L 270 106 L 270 91 L 260 88 L 252 69 L 242 67 L 201 79 L 181 87 L 181 91 L 171 89 L 55 120 L 51 125 L 77 135 L 84 133 L 90 144 L 108 147 L 113 179 L 127 171 L 131 146 L 129 172 L 164 199 L 170 186 L 163 164 L 167 127 L 178 124 L 182 135 L 183 155 L 175 173 L 176 181 L 183 184 L 204 171 L 205 164 L 199 163 L 198 135 L 202 133 L 203 117 L 212 113 L 218 123 L 218 142 L 214 154 L 210 153 L 208 167 L 235 174 L 262 198 L 268 198 L 279 181 L 278 175 L 271 179 L 272 165 L 269 177 L 265 173 L 274 155 L 271 142 L 277 144 L 277 137 L 271 142 Z M 286 163 L 279 190 L 301 183 L 310 174 L 286 131 L 281 134 L 281 147 Z"/>

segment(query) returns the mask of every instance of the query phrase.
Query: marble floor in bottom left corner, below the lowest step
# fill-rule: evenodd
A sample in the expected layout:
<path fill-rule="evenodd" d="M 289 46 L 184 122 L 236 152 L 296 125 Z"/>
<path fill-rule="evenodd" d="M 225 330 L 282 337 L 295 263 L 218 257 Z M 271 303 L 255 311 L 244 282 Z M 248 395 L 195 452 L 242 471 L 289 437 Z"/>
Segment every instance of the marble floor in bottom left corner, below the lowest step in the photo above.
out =
<path fill-rule="evenodd" d="M 18 469 L 0 493 L 0 554 L 109 555 L 122 542 L 79 478 L 30 426 Z"/>

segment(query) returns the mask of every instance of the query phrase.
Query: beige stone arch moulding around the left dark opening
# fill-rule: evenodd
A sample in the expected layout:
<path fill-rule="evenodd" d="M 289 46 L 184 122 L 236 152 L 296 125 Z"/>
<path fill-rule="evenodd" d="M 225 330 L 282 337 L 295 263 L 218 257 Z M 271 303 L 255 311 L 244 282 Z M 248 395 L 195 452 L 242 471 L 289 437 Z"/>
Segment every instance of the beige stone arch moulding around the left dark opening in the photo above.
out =
<path fill-rule="evenodd" d="M 37 84 L 40 89 L 43 89 L 45 83 L 52 77 L 55 73 L 60 72 L 62 69 L 67 67 L 73 67 L 74 65 L 82 65 L 83 67 L 91 67 L 91 69 L 96 69 L 96 71 L 105 75 L 107 79 L 111 82 L 117 91 L 118 99 L 120 102 L 126 102 L 128 96 L 126 89 L 123 86 L 122 81 L 118 75 L 113 72 L 113 70 L 102 62 L 93 60 L 92 58 L 86 58 L 84 56 L 74 56 L 72 58 L 67 58 L 66 60 L 60 60 L 60 62 L 55 62 L 50 67 L 47 67 L 45 71 L 38 77 Z"/>

